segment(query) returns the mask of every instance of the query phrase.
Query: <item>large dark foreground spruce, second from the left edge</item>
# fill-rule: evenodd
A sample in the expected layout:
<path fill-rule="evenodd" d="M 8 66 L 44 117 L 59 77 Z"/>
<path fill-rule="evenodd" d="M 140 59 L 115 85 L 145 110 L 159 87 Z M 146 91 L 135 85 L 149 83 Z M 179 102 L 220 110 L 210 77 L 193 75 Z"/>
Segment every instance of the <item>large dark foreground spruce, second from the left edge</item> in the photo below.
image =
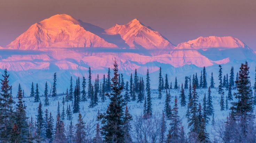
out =
<path fill-rule="evenodd" d="M 29 142 L 29 125 L 26 117 L 26 107 L 23 105 L 21 85 L 18 87 L 18 104 L 15 111 L 15 123 L 12 128 L 12 142 Z"/>

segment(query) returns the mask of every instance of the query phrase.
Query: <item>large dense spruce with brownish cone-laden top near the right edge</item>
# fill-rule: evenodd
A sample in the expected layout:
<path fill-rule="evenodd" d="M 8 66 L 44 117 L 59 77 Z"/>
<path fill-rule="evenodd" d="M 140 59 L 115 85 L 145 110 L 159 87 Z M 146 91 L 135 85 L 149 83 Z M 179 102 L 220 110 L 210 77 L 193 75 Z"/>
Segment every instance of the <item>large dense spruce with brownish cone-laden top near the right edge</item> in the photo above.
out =
<path fill-rule="evenodd" d="M 238 119 L 242 119 L 244 123 L 241 125 L 242 133 L 247 132 L 247 122 L 251 118 L 253 113 L 253 97 L 251 94 L 250 80 L 249 80 L 249 66 L 248 63 L 242 63 L 239 70 L 237 84 L 238 92 L 234 93 L 236 98 L 235 102 L 232 102 L 231 115 Z"/>

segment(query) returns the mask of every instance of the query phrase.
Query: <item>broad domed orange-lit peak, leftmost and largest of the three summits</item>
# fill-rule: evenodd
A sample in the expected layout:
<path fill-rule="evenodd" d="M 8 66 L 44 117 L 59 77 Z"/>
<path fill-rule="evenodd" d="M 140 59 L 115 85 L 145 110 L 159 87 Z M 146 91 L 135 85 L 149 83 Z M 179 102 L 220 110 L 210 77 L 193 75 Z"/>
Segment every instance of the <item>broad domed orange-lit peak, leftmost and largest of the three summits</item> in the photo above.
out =
<path fill-rule="evenodd" d="M 78 20 L 61 14 L 33 24 L 7 47 L 37 50 L 48 47 L 117 47 L 84 29 Z"/>

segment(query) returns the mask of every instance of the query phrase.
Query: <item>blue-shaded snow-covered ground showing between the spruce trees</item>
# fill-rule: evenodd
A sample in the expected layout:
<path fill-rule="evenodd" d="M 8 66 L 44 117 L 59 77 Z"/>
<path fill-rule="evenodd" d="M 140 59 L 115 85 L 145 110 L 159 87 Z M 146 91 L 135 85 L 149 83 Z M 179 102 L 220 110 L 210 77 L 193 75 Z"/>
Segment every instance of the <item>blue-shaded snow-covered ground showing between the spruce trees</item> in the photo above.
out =
<path fill-rule="evenodd" d="M 197 89 L 196 90 L 199 96 L 199 102 L 202 105 L 202 100 L 203 100 L 203 96 L 204 93 L 206 93 L 206 97 L 207 97 L 207 93 L 208 93 L 208 89 Z M 227 95 L 227 91 L 224 89 L 225 91 L 225 95 Z M 236 90 L 232 90 L 232 93 L 236 92 Z M 124 93 L 124 92 L 123 92 Z M 179 99 L 179 95 L 180 95 L 180 91 L 179 90 L 175 90 L 175 89 L 171 89 L 170 90 L 171 93 L 171 108 L 174 105 L 174 98 L 175 96 L 177 96 L 178 98 L 178 111 L 179 111 L 179 116 L 182 120 L 182 125 L 184 126 L 185 132 L 188 133 L 189 128 L 188 128 L 188 123 L 187 123 L 187 118 L 186 118 L 186 110 L 187 107 L 181 107 L 180 106 L 180 99 Z M 162 110 L 164 109 L 164 101 L 165 101 L 165 91 L 163 91 L 163 98 L 162 99 L 158 99 L 158 93 L 156 89 L 152 90 L 152 108 L 153 108 L 153 114 L 162 114 Z M 25 95 L 29 95 L 28 93 Z M 185 89 L 185 95 L 186 95 L 186 101 L 188 101 L 188 89 Z M 216 89 L 211 89 L 211 95 L 212 95 L 212 101 L 213 101 L 213 105 L 214 105 L 214 112 L 215 112 L 215 122 L 221 122 L 224 121 L 226 119 L 226 117 L 228 116 L 229 110 L 224 110 L 224 111 L 220 111 L 220 95 L 217 92 L 217 88 Z M 45 111 L 45 109 L 48 109 L 49 112 L 52 112 L 52 115 L 54 117 L 54 120 L 56 121 L 56 115 L 57 115 L 57 106 L 58 106 L 58 101 L 60 103 L 60 112 L 62 111 L 62 98 L 63 96 L 58 96 L 58 97 L 50 97 L 49 101 L 50 101 L 50 106 L 42 106 L 42 110 Z M 25 97 L 23 98 L 25 101 L 25 105 L 26 105 L 26 113 L 27 116 L 29 118 L 31 118 L 31 116 L 33 117 L 33 119 L 36 118 L 37 115 L 37 108 L 39 103 L 34 103 L 34 98 L 32 97 Z M 17 100 L 15 98 L 15 100 Z M 43 105 L 44 101 L 44 97 L 41 97 L 41 102 Z M 80 102 L 80 113 L 83 116 L 83 120 L 85 121 L 85 123 L 96 123 L 96 116 L 98 114 L 98 110 L 100 111 L 100 113 L 103 113 L 106 111 L 107 106 L 108 106 L 109 100 L 107 99 L 106 102 L 99 102 L 98 106 L 94 107 L 94 108 L 88 108 L 89 105 L 89 100 L 86 102 Z M 65 102 L 64 103 L 64 108 L 66 111 L 67 105 L 71 106 L 71 102 Z M 143 103 L 137 103 L 136 101 L 131 101 L 127 104 L 128 108 L 129 108 L 129 112 L 132 116 L 139 116 L 142 115 L 143 112 Z M 229 107 L 231 106 L 231 103 L 229 101 Z M 72 108 L 72 107 L 71 107 Z M 77 118 L 78 118 L 78 114 L 73 114 L 73 120 L 72 122 L 74 124 L 77 123 Z M 215 133 L 215 128 L 211 125 L 211 120 L 212 117 L 209 117 L 210 121 L 209 124 L 207 125 L 207 132 L 209 133 L 209 136 L 211 139 L 214 138 L 214 136 L 216 135 Z M 55 122 L 54 121 L 54 122 Z M 67 125 L 69 125 L 69 120 L 65 119 L 65 126 L 67 127 Z M 169 121 L 166 121 L 166 125 L 167 125 L 167 131 L 169 129 Z M 166 131 L 166 134 L 168 134 L 168 132 Z"/>

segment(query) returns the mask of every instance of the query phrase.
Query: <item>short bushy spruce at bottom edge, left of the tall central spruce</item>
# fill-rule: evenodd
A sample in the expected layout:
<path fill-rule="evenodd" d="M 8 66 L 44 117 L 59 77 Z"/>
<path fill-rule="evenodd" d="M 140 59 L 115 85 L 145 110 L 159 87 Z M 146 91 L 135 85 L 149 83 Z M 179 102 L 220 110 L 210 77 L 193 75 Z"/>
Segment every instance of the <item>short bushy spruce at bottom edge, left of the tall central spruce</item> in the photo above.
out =
<path fill-rule="evenodd" d="M 78 120 L 75 128 L 76 128 L 75 136 L 74 136 L 75 143 L 86 143 L 85 123 L 80 113 L 78 115 Z"/>

